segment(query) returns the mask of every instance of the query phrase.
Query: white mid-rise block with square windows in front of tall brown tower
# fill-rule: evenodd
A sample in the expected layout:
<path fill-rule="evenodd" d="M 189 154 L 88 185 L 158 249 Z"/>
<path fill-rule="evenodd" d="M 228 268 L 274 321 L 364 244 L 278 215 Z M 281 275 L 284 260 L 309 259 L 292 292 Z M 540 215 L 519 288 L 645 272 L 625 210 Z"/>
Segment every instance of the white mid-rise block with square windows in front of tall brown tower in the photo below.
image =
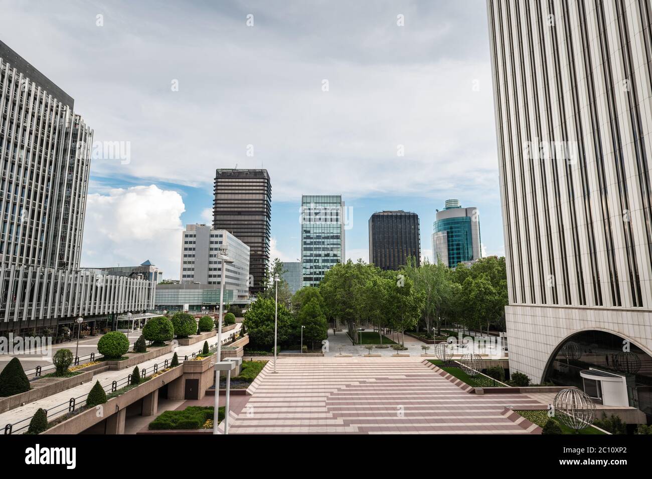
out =
<path fill-rule="evenodd" d="M 246 302 L 249 296 L 249 246 L 224 229 L 208 225 L 186 225 L 182 233 L 181 283 L 213 285 L 219 289 L 222 280 L 220 254 L 229 257 L 226 263 L 224 288 L 233 291 L 233 298 Z"/>

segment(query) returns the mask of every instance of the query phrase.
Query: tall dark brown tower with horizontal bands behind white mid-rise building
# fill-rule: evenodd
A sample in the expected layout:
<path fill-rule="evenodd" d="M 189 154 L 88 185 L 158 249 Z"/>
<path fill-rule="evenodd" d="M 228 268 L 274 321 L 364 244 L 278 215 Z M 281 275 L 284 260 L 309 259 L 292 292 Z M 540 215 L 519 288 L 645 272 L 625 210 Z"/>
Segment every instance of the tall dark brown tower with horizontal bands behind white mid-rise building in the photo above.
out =
<path fill-rule="evenodd" d="M 263 291 L 269 263 L 272 185 L 266 169 L 217 169 L 213 229 L 226 229 L 250 248 L 249 292 Z"/>

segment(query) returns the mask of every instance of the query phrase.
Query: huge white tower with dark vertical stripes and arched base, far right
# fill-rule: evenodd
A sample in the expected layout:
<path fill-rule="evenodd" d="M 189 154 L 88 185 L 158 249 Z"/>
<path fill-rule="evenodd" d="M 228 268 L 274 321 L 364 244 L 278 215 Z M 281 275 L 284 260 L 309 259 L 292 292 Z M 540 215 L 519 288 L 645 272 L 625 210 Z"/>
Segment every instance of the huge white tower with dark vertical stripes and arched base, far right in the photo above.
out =
<path fill-rule="evenodd" d="M 649 417 L 652 9 L 487 7 L 510 369 Z"/>

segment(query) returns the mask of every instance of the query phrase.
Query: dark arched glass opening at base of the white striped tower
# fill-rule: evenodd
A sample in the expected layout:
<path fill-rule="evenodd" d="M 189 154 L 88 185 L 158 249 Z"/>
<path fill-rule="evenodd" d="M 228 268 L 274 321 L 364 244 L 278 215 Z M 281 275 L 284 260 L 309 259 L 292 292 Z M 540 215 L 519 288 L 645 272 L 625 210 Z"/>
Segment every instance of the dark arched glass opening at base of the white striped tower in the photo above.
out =
<path fill-rule="evenodd" d="M 587 373 L 580 375 L 590 370 L 625 377 L 629 405 L 648 418 L 652 416 L 652 357 L 640 347 L 606 331 L 576 332 L 557 345 L 548 360 L 544 381 L 576 386 L 600 402 L 604 396 L 600 381 L 590 379 Z"/>

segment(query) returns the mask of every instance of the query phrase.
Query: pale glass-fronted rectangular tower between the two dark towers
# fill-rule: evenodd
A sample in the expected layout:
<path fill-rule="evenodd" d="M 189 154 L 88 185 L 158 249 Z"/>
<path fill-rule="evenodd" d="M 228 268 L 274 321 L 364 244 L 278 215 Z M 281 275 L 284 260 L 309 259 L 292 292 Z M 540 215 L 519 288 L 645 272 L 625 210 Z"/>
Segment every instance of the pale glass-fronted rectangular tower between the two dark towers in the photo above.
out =
<path fill-rule="evenodd" d="M 346 209 L 340 195 L 301 197 L 301 286 L 316 286 L 345 255 Z"/>

